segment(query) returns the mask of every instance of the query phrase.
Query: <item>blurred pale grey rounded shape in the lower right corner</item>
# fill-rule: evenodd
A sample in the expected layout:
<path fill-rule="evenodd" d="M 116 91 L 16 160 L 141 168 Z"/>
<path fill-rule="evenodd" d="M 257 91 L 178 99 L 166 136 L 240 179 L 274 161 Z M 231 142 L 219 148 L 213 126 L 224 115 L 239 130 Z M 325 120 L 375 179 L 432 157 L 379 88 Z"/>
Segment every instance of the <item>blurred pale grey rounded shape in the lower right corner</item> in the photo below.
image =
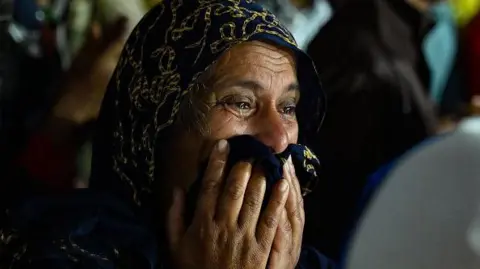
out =
<path fill-rule="evenodd" d="M 479 120 L 399 161 L 360 223 L 347 268 L 480 268 Z"/>

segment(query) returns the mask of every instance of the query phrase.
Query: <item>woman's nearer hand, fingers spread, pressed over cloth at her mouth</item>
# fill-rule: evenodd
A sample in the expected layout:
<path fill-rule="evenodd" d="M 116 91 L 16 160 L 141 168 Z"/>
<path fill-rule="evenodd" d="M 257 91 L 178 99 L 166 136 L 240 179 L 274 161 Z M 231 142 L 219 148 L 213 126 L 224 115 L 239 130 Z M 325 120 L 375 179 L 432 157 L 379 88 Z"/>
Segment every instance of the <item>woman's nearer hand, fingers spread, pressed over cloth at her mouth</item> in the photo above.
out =
<path fill-rule="evenodd" d="M 260 213 L 265 178 L 252 170 L 248 162 L 236 164 L 225 178 L 227 156 L 228 144 L 222 140 L 210 156 L 193 222 L 188 228 L 183 220 L 184 197 L 178 191 L 174 194 L 167 231 L 176 268 L 265 268 L 274 241 L 275 249 L 282 249 L 276 250 L 278 255 L 284 253 L 283 249 L 291 252 L 286 245 L 292 242 L 290 239 L 274 240 L 279 227 L 284 227 L 282 213 L 291 207 L 286 207 L 288 182 L 281 180 L 274 187 L 267 207 Z M 273 257 L 278 261 L 270 264 L 288 264 L 282 268 L 293 268 L 290 264 L 296 264 L 296 261 L 285 263 L 278 255 Z"/>

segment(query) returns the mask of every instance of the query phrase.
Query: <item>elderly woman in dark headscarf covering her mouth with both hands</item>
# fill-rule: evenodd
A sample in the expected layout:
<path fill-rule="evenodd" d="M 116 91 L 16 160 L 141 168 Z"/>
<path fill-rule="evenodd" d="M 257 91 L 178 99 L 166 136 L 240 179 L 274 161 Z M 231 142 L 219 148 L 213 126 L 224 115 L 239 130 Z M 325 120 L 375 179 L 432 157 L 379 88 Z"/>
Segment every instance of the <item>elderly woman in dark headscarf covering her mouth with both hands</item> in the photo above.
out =
<path fill-rule="evenodd" d="M 163 1 L 108 86 L 90 189 L 11 202 L 0 264 L 331 268 L 302 249 L 318 160 L 297 143 L 322 100 L 310 59 L 257 4 Z"/>

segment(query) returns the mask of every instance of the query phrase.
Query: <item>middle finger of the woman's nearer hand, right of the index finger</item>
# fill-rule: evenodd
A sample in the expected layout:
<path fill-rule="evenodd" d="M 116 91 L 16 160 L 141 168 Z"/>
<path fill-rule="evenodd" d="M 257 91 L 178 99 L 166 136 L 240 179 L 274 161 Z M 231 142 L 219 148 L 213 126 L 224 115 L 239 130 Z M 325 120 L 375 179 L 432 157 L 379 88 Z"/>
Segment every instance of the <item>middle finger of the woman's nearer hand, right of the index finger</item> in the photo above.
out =
<path fill-rule="evenodd" d="M 249 162 L 239 162 L 232 168 L 218 205 L 215 216 L 217 221 L 224 222 L 230 227 L 237 226 L 238 214 L 242 209 L 243 197 L 251 175 L 252 164 Z"/>

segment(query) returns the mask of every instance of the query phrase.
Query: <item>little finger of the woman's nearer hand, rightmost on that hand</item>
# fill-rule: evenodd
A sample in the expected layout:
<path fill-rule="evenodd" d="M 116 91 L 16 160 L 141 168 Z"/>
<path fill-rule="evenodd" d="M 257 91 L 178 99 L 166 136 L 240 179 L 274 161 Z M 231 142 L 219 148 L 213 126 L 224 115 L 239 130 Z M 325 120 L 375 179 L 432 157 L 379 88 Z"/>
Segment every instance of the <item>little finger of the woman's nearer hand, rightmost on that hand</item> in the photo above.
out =
<path fill-rule="evenodd" d="M 257 242 L 264 248 L 270 248 L 273 243 L 277 228 L 281 222 L 282 211 L 289 193 L 288 183 L 282 179 L 275 185 L 270 201 L 256 227 Z"/>

